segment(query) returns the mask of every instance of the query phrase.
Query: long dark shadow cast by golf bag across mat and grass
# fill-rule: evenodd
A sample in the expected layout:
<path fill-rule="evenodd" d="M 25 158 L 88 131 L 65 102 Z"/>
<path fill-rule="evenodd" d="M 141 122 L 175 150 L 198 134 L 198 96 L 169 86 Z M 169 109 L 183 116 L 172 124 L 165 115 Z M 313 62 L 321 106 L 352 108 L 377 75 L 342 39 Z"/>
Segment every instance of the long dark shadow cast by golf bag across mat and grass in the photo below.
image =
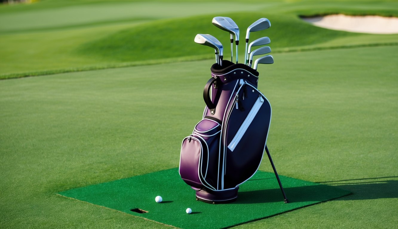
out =
<path fill-rule="evenodd" d="M 385 179 L 387 177 L 383 177 Z M 395 177 L 388 177 L 395 178 Z M 284 188 L 289 202 L 318 202 L 334 199 L 336 193 L 343 190 L 351 192 L 351 194 L 342 194 L 339 200 L 369 200 L 379 198 L 398 198 L 398 180 L 381 180 L 381 178 L 372 179 L 353 179 L 366 180 L 365 182 L 347 182 L 352 180 L 336 180 L 326 182 L 319 182 L 322 184 L 301 186 L 301 187 L 287 187 Z M 343 182 L 343 183 L 341 183 Z M 330 184 L 329 184 L 330 183 Z M 254 190 L 247 192 L 239 192 L 236 204 L 256 204 L 283 201 L 283 196 L 279 188 L 268 190 Z"/>

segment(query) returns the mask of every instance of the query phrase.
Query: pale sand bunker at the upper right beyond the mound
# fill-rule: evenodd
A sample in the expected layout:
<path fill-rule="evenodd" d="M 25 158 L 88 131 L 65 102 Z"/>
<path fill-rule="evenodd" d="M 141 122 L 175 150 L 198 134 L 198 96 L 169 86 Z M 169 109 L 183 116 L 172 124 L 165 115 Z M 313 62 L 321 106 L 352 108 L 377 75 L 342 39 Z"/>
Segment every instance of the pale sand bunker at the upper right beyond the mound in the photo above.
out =
<path fill-rule="evenodd" d="M 324 17 L 303 17 L 315 26 L 354 33 L 394 34 L 398 33 L 398 17 L 347 16 L 343 14 Z"/>

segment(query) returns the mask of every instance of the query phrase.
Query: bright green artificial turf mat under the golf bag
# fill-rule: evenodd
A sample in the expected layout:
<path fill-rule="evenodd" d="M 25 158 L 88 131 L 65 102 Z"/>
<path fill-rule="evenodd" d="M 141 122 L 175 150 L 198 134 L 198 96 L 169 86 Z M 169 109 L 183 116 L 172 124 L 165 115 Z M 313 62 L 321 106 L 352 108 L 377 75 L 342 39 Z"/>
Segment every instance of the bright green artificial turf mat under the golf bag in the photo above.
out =
<path fill-rule="evenodd" d="M 195 191 L 179 177 L 178 168 L 59 192 L 131 215 L 181 228 L 223 228 L 349 195 L 333 186 L 280 176 L 290 203 L 273 173 L 258 171 L 239 188 L 238 199 L 228 204 L 195 200 Z M 163 202 L 156 203 L 155 197 Z M 185 213 L 187 208 L 191 214 Z M 133 212 L 143 210 L 146 213 Z"/>

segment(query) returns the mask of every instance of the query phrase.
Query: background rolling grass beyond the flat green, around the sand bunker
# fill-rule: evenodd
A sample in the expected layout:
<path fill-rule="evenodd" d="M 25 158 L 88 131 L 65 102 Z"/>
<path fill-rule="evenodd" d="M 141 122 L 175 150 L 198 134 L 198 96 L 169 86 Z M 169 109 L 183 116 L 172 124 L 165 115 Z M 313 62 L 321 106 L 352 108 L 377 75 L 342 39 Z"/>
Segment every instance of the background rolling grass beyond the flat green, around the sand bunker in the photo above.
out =
<path fill-rule="evenodd" d="M 43 1 L 0 7 L 0 79 L 142 64 L 211 59 L 210 48 L 193 43 L 210 33 L 230 53 L 229 36 L 211 24 L 214 16 L 232 17 L 245 29 L 259 17 L 271 28 L 273 52 L 397 45 L 398 35 L 332 31 L 309 25 L 300 15 L 376 14 L 398 16 L 396 1 Z"/>

